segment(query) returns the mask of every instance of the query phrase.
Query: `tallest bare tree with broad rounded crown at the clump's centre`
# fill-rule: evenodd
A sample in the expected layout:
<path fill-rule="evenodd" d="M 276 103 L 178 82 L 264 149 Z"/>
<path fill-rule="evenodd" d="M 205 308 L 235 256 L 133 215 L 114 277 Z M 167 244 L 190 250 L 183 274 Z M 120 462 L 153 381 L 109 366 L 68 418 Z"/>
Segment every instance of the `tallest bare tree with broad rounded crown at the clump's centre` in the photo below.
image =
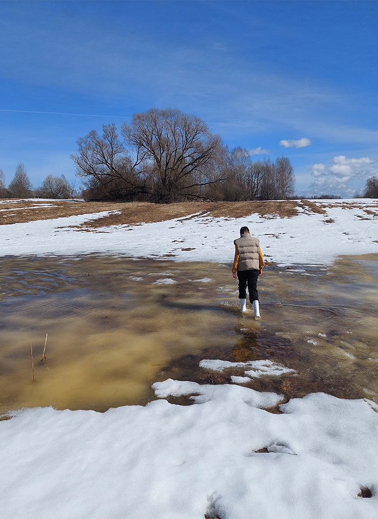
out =
<path fill-rule="evenodd" d="M 130 125 L 122 125 L 122 133 L 142 159 L 141 172 L 152 181 L 157 202 L 200 197 L 202 186 L 219 180 L 211 173 L 221 138 L 198 117 L 151 108 L 135 114 Z"/>

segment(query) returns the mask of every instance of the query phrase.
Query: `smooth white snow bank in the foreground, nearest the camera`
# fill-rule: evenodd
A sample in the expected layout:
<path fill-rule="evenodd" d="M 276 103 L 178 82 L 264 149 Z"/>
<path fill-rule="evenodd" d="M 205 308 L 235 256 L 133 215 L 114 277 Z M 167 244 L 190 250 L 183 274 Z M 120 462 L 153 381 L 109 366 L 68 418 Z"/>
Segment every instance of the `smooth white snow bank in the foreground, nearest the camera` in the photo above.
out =
<path fill-rule="evenodd" d="M 378 408 L 166 380 L 159 397 L 94 411 L 34 408 L 0 422 L 7 519 L 345 519 L 377 516 Z M 257 452 L 257 451 L 261 452 Z M 357 497 L 368 486 L 373 497 Z M 215 516 L 215 515 L 214 515 Z"/>

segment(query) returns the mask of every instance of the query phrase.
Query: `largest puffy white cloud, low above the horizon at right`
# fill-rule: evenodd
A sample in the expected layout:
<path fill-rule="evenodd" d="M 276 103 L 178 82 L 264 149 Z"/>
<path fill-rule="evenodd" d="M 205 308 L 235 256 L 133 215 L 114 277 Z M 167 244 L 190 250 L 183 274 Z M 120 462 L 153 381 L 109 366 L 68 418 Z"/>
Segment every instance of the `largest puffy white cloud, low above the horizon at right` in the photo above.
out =
<path fill-rule="evenodd" d="M 340 195 L 351 197 L 360 192 L 366 180 L 376 174 L 377 167 L 369 166 L 369 157 L 346 158 L 345 155 L 333 157 L 330 165 L 322 163 L 312 166 L 314 182 L 309 186 L 309 195 Z"/>

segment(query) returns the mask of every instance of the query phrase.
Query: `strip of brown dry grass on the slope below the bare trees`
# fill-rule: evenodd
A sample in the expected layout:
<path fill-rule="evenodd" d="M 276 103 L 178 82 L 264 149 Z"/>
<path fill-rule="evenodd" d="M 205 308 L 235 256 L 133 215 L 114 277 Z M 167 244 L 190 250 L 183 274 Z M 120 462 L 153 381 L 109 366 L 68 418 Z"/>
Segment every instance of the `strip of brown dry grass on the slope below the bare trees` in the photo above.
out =
<path fill-rule="evenodd" d="M 190 217 L 196 213 L 215 218 L 240 218 L 257 213 L 265 218 L 296 216 L 298 208 L 307 212 L 326 214 L 326 211 L 309 200 L 269 200 L 253 202 L 178 202 L 155 204 L 149 202 L 79 202 L 55 200 L 4 200 L 0 204 L 0 224 L 33 222 L 65 216 L 113 211 L 96 220 L 89 220 L 78 229 L 109 225 L 138 225 L 145 222 L 162 222 L 172 218 Z"/>

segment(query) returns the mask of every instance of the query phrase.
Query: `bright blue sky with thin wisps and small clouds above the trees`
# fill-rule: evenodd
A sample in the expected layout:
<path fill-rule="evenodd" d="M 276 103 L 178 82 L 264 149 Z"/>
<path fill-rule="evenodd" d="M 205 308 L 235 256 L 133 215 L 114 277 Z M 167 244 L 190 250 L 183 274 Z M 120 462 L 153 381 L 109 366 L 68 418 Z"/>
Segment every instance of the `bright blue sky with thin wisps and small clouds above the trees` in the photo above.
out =
<path fill-rule="evenodd" d="M 80 136 L 173 107 L 288 156 L 300 195 L 354 195 L 378 174 L 377 34 L 369 0 L 3 0 L 0 168 L 72 178 Z"/>

